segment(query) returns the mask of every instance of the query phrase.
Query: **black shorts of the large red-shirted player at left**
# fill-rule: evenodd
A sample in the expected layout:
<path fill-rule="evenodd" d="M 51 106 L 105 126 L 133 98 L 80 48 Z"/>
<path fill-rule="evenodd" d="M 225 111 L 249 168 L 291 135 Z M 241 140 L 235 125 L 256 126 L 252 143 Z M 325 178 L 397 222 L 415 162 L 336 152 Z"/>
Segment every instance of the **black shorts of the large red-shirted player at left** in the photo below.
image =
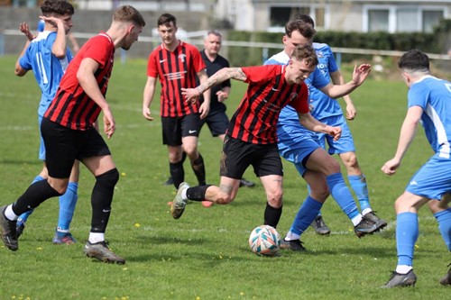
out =
<path fill-rule="evenodd" d="M 76 131 L 42 118 L 41 135 L 45 144 L 45 163 L 49 175 L 54 178 L 69 178 L 75 159 L 111 155 L 95 128 Z"/>

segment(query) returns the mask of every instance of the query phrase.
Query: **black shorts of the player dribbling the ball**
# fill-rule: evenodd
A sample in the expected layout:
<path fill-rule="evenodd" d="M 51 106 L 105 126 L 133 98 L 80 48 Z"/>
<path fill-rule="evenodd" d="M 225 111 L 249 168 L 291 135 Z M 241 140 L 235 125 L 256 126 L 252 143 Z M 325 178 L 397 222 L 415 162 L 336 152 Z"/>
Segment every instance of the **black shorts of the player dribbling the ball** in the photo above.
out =
<path fill-rule="evenodd" d="M 277 143 L 253 144 L 226 136 L 219 175 L 241 179 L 250 165 L 257 177 L 283 176 L 281 157 Z"/>

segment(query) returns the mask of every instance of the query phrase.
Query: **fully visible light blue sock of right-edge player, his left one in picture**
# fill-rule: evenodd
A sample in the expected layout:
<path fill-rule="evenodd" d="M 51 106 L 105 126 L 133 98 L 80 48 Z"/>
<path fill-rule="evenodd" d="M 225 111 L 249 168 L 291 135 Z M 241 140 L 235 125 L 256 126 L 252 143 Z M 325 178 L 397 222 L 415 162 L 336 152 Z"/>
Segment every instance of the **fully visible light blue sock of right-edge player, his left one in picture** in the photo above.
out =
<path fill-rule="evenodd" d="M 413 251 L 419 238 L 418 214 L 401 213 L 396 216 L 396 250 L 398 265 L 413 266 Z"/>

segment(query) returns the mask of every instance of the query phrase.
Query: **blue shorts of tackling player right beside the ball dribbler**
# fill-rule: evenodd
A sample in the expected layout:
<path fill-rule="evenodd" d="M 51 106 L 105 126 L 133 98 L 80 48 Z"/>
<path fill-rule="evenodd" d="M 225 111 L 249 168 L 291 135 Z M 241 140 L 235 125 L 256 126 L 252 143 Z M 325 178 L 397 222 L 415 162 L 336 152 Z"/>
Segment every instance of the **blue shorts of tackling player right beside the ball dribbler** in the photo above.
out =
<path fill-rule="evenodd" d="M 313 132 L 306 129 L 299 131 L 298 127 L 279 127 L 277 128 L 277 137 L 279 139 L 279 154 L 282 158 L 293 163 L 300 176 L 307 171 L 305 167 L 309 155 L 319 146 Z"/>

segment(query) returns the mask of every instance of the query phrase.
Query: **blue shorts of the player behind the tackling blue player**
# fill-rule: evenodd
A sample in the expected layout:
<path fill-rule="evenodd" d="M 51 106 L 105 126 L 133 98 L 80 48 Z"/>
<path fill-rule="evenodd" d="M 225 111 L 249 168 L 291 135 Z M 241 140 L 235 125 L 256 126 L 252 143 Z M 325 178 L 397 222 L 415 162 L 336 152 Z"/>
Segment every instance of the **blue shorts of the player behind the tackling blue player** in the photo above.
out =
<path fill-rule="evenodd" d="M 346 152 L 355 152 L 354 140 L 349 127 L 345 121 L 343 114 L 333 115 L 327 118 L 321 119 L 320 122 L 326 123 L 329 126 L 341 127 L 341 137 L 338 141 L 334 141 L 334 137 L 327 133 L 313 132 L 318 138 L 318 143 L 321 147 L 326 149 L 326 142 L 328 146 L 327 152 L 330 155 L 340 154 Z"/>

